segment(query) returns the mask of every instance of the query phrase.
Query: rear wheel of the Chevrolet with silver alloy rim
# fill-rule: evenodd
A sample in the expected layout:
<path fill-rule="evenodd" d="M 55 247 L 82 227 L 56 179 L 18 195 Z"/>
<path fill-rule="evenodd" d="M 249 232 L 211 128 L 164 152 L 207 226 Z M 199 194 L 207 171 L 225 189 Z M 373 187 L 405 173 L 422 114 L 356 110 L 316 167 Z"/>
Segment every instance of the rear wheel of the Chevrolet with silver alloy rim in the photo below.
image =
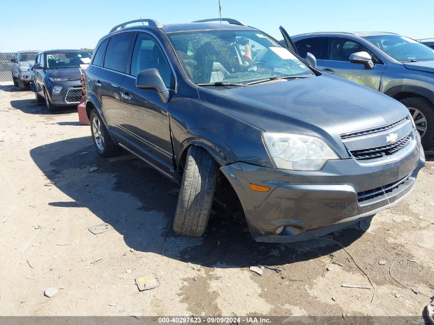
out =
<path fill-rule="evenodd" d="M 116 145 L 102 122 L 96 109 L 90 112 L 90 131 L 95 148 L 101 157 L 113 157 L 119 154 L 120 148 Z"/>

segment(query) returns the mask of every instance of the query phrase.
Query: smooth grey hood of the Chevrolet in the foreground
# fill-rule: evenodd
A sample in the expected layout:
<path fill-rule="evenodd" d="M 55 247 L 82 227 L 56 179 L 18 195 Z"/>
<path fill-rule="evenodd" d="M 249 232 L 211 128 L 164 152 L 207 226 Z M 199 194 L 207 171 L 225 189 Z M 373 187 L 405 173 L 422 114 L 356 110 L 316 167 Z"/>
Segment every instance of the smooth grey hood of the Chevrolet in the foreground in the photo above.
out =
<path fill-rule="evenodd" d="M 262 130 L 308 133 L 335 141 L 343 133 L 387 125 L 408 115 L 404 105 L 387 95 L 327 73 L 231 89 L 199 87 L 198 91 L 208 105 Z"/>

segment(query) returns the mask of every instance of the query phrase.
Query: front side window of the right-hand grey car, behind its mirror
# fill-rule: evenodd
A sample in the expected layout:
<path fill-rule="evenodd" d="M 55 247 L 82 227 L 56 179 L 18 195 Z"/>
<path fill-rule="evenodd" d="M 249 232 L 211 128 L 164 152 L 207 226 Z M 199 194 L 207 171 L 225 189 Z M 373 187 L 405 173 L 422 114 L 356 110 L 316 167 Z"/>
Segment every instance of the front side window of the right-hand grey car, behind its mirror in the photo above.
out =
<path fill-rule="evenodd" d="M 327 60 L 350 62 L 350 55 L 355 52 L 368 52 L 374 63 L 382 64 L 381 60 L 363 44 L 342 37 L 331 37 Z"/>

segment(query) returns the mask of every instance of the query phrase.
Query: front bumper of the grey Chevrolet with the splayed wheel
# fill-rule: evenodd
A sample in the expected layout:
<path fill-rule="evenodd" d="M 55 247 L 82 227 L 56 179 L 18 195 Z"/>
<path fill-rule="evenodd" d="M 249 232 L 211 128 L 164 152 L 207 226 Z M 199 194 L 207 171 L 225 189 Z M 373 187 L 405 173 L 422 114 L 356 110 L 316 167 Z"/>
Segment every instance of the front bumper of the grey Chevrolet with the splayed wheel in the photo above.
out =
<path fill-rule="evenodd" d="M 301 172 L 237 162 L 220 170 L 240 199 L 252 237 L 291 242 L 331 233 L 392 207 L 410 193 L 424 165 L 418 141 L 407 156 L 382 165 L 342 159 L 328 161 L 320 171 Z M 255 192 L 249 183 L 271 189 Z M 285 230 L 277 235 L 282 226 Z"/>

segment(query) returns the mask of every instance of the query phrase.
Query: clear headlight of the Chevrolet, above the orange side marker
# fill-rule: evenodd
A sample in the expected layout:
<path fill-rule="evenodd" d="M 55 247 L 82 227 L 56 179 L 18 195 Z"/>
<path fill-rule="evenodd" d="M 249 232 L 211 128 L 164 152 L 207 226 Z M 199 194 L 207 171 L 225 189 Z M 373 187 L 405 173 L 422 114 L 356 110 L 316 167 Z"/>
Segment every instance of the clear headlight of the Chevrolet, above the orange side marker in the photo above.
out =
<path fill-rule="evenodd" d="M 279 169 L 314 171 L 323 168 L 328 160 L 339 159 L 320 138 L 278 132 L 263 132 L 262 136 Z"/>

